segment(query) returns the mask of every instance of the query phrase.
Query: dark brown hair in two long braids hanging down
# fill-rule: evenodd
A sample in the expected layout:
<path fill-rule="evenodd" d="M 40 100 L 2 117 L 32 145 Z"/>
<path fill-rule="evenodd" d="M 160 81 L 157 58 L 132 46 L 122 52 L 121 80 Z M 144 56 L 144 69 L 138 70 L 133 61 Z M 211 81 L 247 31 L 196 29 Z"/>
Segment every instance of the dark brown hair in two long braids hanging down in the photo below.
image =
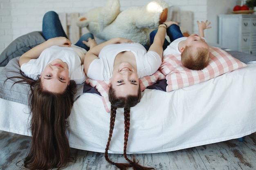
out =
<path fill-rule="evenodd" d="M 126 97 L 117 97 L 115 94 L 115 90 L 110 86 L 109 89 L 109 101 L 111 103 L 111 113 L 110 113 L 110 130 L 109 130 L 109 137 L 108 137 L 108 143 L 106 146 L 105 151 L 105 159 L 117 166 L 117 168 L 121 170 L 126 170 L 129 167 L 133 167 L 134 170 L 153 170 L 154 168 L 146 168 L 141 165 L 139 165 L 139 161 L 135 159 L 134 156 L 132 156 L 132 161 L 128 159 L 126 154 L 126 148 L 127 148 L 127 141 L 128 141 L 128 135 L 129 135 L 129 129 L 130 129 L 130 107 L 135 106 L 137 103 L 140 102 L 141 99 L 141 89 L 138 90 L 138 95 L 131 96 L 128 95 Z M 115 117 L 116 117 L 116 110 L 117 108 L 124 108 L 124 158 L 128 161 L 128 163 L 115 163 L 112 162 L 108 158 L 108 148 L 110 146 L 110 141 L 113 133 L 113 129 L 115 126 Z"/>

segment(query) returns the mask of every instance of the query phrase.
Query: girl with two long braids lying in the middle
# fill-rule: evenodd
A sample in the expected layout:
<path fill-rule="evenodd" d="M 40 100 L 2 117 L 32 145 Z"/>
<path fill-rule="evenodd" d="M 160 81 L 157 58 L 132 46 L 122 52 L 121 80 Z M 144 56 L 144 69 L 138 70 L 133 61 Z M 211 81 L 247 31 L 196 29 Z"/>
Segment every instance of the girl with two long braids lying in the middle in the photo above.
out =
<path fill-rule="evenodd" d="M 160 24 L 154 41 L 148 51 L 141 44 L 125 38 L 113 38 L 103 42 L 85 54 L 84 69 L 91 79 L 109 80 L 109 101 L 111 103 L 110 134 L 106 147 L 105 158 L 109 163 L 121 170 L 133 167 L 134 170 L 149 170 L 127 158 L 126 146 L 130 126 L 130 107 L 141 99 L 139 78 L 152 75 L 162 64 L 163 44 L 166 29 L 176 22 L 168 21 Z M 128 163 L 114 163 L 108 158 L 108 147 L 112 137 L 117 108 L 124 108 L 125 135 L 124 157 Z"/>

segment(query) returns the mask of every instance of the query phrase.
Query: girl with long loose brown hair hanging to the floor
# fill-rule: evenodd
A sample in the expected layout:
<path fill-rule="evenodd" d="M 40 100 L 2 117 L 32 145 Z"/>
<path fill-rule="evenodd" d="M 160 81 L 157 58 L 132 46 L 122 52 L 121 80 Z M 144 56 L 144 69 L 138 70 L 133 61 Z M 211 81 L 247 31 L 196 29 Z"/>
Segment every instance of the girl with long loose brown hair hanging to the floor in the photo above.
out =
<path fill-rule="evenodd" d="M 83 57 L 96 46 L 87 33 L 72 45 L 54 11 L 43 17 L 45 42 L 24 53 L 19 60 L 22 77 L 15 83 L 30 85 L 31 146 L 24 160 L 29 170 L 62 168 L 70 161 L 66 134 L 76 84 L 85 81 Z M 90 40 L 83 42 L 83 40 Z M 87 45 L 85 45 L 87 44 Z"/>

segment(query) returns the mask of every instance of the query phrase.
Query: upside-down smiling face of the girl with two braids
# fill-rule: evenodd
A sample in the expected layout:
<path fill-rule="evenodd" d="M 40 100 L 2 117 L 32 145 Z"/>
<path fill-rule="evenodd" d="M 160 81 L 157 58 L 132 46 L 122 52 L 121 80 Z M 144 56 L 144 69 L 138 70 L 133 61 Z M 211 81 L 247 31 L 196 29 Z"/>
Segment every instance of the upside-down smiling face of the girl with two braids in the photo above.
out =
<path fill-rule="evenodd" d="M 115 89 L 117 96 L 137 95 L 139 88 L 137 70 L 127 62 L 114 66 L 110 84 Z"/>

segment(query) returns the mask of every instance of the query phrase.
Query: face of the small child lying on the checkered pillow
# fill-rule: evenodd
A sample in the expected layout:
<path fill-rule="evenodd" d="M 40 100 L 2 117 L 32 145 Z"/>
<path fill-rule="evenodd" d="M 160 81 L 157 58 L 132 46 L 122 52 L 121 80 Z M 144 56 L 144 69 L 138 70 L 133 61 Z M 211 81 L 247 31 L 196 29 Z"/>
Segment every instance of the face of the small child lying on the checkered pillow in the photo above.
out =
<path fill-rule="evenodd" d="M 209 49 L 209 45 L 199 35 L 191 34 L 185 41 L 185 46 L 193 46 L 195 49 L 198 47 Z"/>

